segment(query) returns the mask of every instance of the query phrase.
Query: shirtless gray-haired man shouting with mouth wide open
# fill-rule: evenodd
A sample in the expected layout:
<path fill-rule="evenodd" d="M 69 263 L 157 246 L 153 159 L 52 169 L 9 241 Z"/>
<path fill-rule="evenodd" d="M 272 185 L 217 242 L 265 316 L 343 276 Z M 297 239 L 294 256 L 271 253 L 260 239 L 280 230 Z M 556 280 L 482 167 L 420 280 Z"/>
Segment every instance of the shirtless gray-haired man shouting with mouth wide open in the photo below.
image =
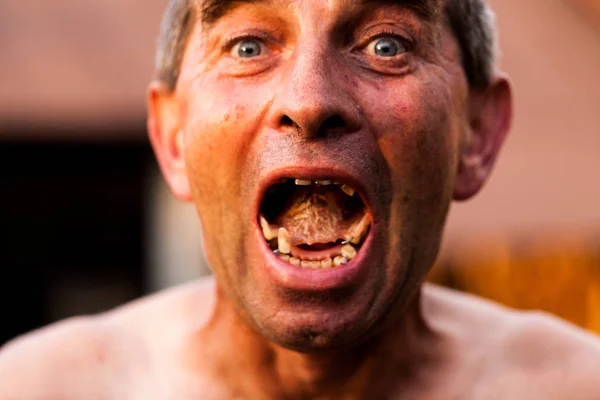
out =
<path fill-rule="evenodd" d="M 600 343 L 423 283 L 511 120 L 482 0 L 172 1 L 148 127 L 206 280 L 6 346 L 0 399 L 599 399 Z"/>

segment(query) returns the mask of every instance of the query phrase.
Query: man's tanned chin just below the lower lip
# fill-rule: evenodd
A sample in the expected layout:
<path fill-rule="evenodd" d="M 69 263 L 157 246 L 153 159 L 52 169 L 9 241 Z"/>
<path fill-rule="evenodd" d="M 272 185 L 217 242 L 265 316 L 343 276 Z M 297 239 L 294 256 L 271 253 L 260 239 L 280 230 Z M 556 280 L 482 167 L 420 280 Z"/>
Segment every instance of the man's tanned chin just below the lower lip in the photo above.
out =
<path fill-rule="evenodd" d="M 370 240 L 377 242 L 377 231 L 373 234 Z M 279 346 L 302 353 L 353 347 L 376 335 L 378 327 L 390 323 L 395 315 L 387 311 L 400 310 L 403 304 L 399 303 L 408 298 L 402 296 L 403 290 L 396 290 L 403 287 L 405 266 L 386 268 L 382 256 L 388 254 L 382 250 L 385 246 L 371 243 L 369 248 L 370 252 L 362 256 L 376 261 L 366 268 L 368 273 L 359 275 L 360 279 L 350 275 L 345 285 L 306 287 L 294 282 L 290 287 L 264 275 L 253 279 L 258 283 L 245 291 L 243 303 L 255 330 Z M 259 263 L 252 267 L 264 271 L 265 266 Z M 355 273 L 360 274 L 363 267 L 357 264 Z"/>

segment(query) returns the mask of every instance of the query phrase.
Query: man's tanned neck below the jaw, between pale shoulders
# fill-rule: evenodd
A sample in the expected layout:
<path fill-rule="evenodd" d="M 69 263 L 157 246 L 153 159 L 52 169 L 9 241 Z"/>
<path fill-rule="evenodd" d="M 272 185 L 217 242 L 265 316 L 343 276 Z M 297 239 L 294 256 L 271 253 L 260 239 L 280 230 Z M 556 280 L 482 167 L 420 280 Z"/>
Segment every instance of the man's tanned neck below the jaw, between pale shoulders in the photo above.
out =
<path fill-rule="evenodd" d="M 204 345 L 218 345 L 217 358 L 231 371 L 227 375 L 249 392 L 271 388 L 273 398 L 387 397 L 417 382 L 417 373 L 431 361 L 436 336 L 425 323 L 421 296 L 419 290 L 404 313 L 369 340 L 306 354 L 259 335 L 217 289 L 213 319 L 195 337 Z"/>

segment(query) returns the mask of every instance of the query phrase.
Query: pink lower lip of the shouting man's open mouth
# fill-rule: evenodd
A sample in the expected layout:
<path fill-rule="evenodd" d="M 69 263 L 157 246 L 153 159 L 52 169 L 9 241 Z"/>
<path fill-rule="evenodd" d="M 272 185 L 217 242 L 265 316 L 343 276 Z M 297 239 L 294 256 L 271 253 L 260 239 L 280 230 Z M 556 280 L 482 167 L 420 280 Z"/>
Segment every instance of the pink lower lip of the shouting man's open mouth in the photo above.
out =
<path fill-rule="evenodd" d="M 371 250 L 373 226 L 365 238 L 358 254 L 348 264 L 330 269 L 309 269 L 294 266 L 277 257 L 265 241 L 260 228 L 255 229 L 267 274 L 278 285 L 299 291 L 326 291 L 355 286 L 364 281 L 369 272 L 366 263 Z"/>

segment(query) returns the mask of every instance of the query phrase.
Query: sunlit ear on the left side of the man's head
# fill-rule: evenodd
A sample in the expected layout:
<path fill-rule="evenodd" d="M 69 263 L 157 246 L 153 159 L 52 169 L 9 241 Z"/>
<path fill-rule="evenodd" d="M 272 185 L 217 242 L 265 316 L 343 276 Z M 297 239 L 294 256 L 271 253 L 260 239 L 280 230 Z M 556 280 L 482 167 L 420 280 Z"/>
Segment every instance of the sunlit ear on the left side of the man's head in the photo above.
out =
<path fill-rule="evenodd" d="M 157 82 L 148 88 L 148 135 L 171 191 L 180 200 L 191 200 L 180 104 L 172 91 Z"/>

